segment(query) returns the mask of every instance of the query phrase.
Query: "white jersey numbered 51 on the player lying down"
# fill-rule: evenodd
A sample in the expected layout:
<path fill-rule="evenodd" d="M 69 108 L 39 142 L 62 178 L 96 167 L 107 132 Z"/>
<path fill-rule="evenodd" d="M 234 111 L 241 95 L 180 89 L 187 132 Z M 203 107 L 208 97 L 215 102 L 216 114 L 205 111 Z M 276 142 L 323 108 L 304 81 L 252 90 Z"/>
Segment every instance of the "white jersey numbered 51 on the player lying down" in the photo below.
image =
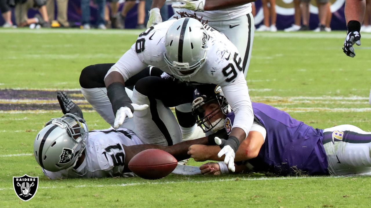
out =
<path fill-rule="evenodd" d="M 143 144 L 131 130 L 119 128 L 118 130 L 94 130 L 89 132 L 85 148 L 85 159 L 75 170 L 61 170 L 50 172 L 43 169 L 50 179 L 58 178 L 103 178 L 103 177 L 129 177 L 133 173 L 124 172 L 125 146 Z"/>

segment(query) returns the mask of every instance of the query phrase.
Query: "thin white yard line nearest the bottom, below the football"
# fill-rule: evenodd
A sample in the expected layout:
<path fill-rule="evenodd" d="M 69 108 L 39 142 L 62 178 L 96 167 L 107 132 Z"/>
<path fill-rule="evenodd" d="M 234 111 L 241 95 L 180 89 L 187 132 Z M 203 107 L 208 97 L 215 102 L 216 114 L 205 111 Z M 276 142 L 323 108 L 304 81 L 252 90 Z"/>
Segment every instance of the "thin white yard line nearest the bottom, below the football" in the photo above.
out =
<path fill-rule="evenodd" d="M 54 188 L 96 188 L 96 187 L 124 187 L 124 186 L 137 186 L 137 185 L 157 185 L 157 184 L 180 184 L 180 183 L 209 183 L 209 182 L 227 182 L 227 181 L 268 181 L 268 180 L 293 180 L 293 179 L 307 179 L 307 178 L 345 178 L 342 176 L 302 176 L 302 177 L 261 177 L 261 178 L 227 178 L 227 179 L 216 179 L 216 180 L 204 180 L 204 181 L 168 181 L 168 182 L 141 182 L 141 183 L 128 183 L 128 184 L 102 184 L 102 185 L 75 185 L 75 186 L 40 186 L 40 189 L 54 189 Z M 13 190 L 13 188 L 0 188 L 0 190 Z"/>

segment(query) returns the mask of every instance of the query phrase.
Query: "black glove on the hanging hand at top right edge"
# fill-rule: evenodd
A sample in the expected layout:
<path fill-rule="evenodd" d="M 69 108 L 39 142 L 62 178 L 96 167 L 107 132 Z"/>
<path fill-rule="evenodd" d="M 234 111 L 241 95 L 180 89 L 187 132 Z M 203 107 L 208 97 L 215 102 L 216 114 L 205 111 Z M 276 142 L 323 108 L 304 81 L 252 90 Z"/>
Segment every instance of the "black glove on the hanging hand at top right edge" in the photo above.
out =
<path fill-rule="evenodd" d="M 360 30 L 361 23 L 356 20 L 351 20 L 348 22 L 347 37 L 345 37 L 343 47 L 343 51 L 347 56 L 355 56 L 353 48 L 354 43 L 357 44 L 357 46 L 361 45 L 361 34 L 359 33 Z"/>

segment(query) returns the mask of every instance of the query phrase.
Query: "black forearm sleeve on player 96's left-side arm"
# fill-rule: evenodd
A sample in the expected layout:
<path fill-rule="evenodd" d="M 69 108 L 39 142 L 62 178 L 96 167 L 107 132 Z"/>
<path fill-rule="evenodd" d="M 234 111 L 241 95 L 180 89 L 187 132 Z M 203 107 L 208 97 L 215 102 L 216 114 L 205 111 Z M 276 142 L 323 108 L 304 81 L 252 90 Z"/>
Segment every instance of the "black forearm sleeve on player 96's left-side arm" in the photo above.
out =
<path fill-rule="evenodd" d="M 131 100 L 128 96 L 128 94 L 125 91 L 125 85 L 119 82 L 115 82 L 110 84 L 107 87 L 107 95 L 109 98 L 109 101 L 111 101 L 112 104 L 112 110 L 114 111 L 114 114 L 116 115 L 116 112 L 121 107 L 128 107 L 130 108 L 131 112 L 134 112 L 134 108 L 131 105 Z"/>

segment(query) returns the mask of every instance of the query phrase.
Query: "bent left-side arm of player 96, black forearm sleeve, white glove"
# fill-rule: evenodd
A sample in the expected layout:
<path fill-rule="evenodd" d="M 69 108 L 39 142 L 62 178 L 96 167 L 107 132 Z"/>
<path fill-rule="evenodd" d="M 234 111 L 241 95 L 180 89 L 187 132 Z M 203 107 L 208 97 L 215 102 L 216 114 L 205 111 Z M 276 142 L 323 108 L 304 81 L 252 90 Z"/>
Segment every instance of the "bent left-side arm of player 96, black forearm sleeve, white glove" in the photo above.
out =
<path fill-rule="evenodd" d="M 107 95 L 115 114 L 115 129 L 124 123 L 126 117 L 131 118 L 134 111 L 148 107 L 133 104 L 125 91 L 125 80 L 147 67 L 147 64 L 139 59 L 135 47 L 136 43 L 108 70 L 104 78 Z"/>

